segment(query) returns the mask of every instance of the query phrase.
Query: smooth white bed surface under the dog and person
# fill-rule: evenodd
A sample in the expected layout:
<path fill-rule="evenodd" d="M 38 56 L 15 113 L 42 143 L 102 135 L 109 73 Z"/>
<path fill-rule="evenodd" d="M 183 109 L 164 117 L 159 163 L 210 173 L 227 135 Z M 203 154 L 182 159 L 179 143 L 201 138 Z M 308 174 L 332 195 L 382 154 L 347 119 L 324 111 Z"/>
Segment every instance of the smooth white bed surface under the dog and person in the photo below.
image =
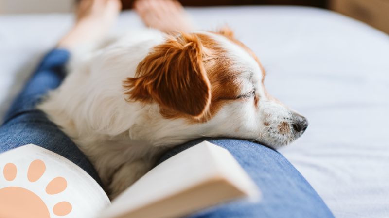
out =
<path fill-rule="evenodd" d="M 306 7 L 188 9 L 204 30 L 229 25 L 259 56 L 270 93 L 309 120 L 280 152 L 337 218 L 389 217 L 389 37 Z M 0 116 L 71 15 L 0 16 Z M 125 12 L 115 31 L 142 28 Z"/>

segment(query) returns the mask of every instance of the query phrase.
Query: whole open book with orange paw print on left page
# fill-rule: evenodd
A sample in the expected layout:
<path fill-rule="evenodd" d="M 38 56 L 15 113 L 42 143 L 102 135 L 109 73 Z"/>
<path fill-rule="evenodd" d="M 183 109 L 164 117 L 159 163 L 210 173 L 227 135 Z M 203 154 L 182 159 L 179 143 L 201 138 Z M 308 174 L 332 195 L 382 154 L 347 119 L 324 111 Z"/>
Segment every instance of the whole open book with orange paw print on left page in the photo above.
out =
<path fill-rule="evenodd" d="M 175 218 L 259 190 L 226 150 L 203 141 L 113 202 L 85 171 L 33 144 L 0 154 L 0 218 Z"/>

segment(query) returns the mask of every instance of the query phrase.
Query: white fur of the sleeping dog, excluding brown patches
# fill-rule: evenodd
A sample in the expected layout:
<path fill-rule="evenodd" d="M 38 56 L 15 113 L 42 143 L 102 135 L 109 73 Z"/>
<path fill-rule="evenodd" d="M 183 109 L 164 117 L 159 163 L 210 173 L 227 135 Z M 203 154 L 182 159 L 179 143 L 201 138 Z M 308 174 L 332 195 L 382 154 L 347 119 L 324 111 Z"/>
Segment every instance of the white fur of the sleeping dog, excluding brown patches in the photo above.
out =
<path fill-rule="evenodd" d="M 222 36 L 212 37 L 230 52 L 236 67 L 247 72 L 241 78 L 242 93 L 254 87 L 259 108 L 254 107 L 253 98 L 231 101 L 208 122 L 194 124 L 162 117 L 156 104 L 125 101 L 123 80 L 134 77 L 150 48 L 165 40 L 162 33 L 151 30 L 118 38 L 86 55 L 88 58 L 74 66 L 63 84 L 39 105 L 88 156 L 111 197 L 147 172 L 161 152 L 188 140 L 237 137 L 276 148 L 298 137 L 269 131 L 290 117 L 290 110 L 266 97 L 261 69 L 244 49 Z"/>

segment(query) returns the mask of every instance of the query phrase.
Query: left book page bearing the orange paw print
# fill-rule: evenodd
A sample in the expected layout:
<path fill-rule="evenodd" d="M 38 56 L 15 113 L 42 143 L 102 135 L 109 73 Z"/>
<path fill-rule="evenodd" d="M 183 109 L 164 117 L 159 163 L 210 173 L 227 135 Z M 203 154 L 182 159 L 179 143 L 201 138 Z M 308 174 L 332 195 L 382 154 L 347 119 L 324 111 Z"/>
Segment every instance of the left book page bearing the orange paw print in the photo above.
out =
<path fill-rule="evenodd" d="M 68 159 L 29 144 L 0 154 L 0 217 L 91 218 L 110 205 Z"/>

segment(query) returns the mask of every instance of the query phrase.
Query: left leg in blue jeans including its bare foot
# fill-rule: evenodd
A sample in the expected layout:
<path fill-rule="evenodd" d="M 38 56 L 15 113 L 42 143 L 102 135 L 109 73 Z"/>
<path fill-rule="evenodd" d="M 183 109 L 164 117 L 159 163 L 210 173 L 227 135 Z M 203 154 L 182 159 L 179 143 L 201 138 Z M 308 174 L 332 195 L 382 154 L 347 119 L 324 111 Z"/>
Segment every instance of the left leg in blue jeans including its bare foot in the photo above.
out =
<path fill-rule="evenodd" d="M 62 48 L 45 56 L 7 112 L 0 127 L 0 153 L 33 143 L 68 158 L 100 181 L 86 156 L 35 106 L 45 93 L 57 88 L 65 78 L 65 66 L 71 55 L 69 49 L 101 37 L 119 11 L 119 0 L 81 2 L 76 24 L 58 44 Z"/>

